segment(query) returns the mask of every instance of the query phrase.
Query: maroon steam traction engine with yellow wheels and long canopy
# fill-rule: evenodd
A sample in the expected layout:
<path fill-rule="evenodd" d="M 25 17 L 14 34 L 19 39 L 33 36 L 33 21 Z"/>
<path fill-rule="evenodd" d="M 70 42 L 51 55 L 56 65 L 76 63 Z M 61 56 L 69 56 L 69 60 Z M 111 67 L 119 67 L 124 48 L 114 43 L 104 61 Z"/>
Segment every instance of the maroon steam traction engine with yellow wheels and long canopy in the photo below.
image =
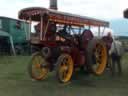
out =
<path fill-rule="evenodd" d="M 35 51 L 29 64 L 32 78 L 43 80 L 54 69 L 62 83 L 71 79 L 76 68 L 95 75 L 103 73 L 106 45 L 85 26 L 108 27 L 108 22 L 39 7 L 21 10 L 19 18 L 30 24 L 37 22 L 36 32 L 28 36 Z"/>

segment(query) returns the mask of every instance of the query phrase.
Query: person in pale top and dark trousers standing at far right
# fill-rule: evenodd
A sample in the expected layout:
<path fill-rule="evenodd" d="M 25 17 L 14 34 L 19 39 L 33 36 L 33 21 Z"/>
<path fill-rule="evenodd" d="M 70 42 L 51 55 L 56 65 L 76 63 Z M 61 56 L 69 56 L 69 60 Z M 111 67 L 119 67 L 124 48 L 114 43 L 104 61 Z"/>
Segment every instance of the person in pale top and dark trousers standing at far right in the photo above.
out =
<path fill-rule="evenodd" d="M 121 59 L 123 55 L 123 46 L 122 43 L 118 40 L 118 38 L 113 40 L 111 48 L 109 50 L 109 54 L 112 60 L 112 75 L 115 75 L 116 67 L 118 75 L 122 75 Z"/>

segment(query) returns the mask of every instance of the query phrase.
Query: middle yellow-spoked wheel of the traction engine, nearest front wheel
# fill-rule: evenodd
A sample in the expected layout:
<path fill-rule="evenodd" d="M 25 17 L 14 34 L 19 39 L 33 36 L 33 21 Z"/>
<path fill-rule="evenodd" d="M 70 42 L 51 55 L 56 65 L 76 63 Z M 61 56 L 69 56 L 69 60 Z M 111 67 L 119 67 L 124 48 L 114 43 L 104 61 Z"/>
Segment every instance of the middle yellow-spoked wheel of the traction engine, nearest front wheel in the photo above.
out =
<path fill-rule="evenodd" d="M 61 83 L 70 81 L 73 73 L 73 60 L 68 54 L 62 54 L 57 61 L 57 78 Z"/>

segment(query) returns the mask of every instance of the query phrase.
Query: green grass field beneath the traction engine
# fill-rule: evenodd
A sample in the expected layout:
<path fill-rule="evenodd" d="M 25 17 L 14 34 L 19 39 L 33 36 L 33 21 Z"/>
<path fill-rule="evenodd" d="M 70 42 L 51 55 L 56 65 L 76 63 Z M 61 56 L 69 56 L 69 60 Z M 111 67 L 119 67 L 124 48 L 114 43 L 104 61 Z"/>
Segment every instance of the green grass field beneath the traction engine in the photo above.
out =
<path fill-rule="evenodd" d="M 0 96 L 128 96 L 128 54 L 123 58 L 123 76 L 110 72 L 100 76 L 76 74 L 68 84 L 60 84 L 50 73 L 45 81 L 33 81 L 27 73 L 30 57 L 0 58 Z"/>

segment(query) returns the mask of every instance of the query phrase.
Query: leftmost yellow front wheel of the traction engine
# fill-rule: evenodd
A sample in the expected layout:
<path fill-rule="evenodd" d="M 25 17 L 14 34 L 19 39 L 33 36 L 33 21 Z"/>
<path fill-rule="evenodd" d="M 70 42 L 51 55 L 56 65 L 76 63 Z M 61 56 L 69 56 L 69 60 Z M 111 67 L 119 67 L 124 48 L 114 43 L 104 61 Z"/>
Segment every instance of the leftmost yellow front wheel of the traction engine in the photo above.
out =
<path fill-rule="evenodd" d="M 28 70 L 33 79 L 44 80 L 49 72 L 49 64 L 40 52 L 36 52 L 32 55 Z"/>

